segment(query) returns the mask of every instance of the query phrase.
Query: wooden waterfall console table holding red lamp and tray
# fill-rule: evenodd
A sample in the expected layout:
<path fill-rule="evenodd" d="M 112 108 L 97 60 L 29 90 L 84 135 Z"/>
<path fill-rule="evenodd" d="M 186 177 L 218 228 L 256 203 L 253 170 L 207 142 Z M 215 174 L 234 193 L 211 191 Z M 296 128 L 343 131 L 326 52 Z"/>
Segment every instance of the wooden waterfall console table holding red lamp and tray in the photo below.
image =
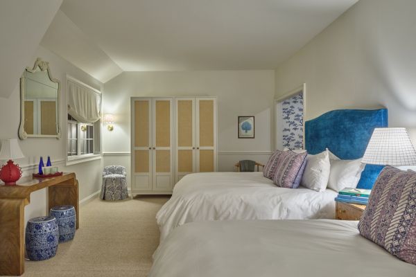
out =
<path fill-rule="evenodd" d="M 78 181 L 75 173 L 52 178 L 24 177 L 17 186 L 0 185 L 0 275 L 24 273 L 24 206 L 31 193 L 48 188 L 48 213 L 53 206 L 72 205 L 79 227 Z"/>

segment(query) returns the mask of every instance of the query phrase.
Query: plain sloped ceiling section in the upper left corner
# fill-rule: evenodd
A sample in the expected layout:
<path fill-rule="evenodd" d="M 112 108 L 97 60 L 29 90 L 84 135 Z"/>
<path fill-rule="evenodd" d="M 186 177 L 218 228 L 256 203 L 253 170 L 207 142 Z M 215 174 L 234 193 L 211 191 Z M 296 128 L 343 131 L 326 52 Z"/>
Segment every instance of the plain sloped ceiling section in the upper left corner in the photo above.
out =
<path fill-rule="evenodd" d="M 17 85 L 62 0 L 0 1 L 0 97 Z"/>

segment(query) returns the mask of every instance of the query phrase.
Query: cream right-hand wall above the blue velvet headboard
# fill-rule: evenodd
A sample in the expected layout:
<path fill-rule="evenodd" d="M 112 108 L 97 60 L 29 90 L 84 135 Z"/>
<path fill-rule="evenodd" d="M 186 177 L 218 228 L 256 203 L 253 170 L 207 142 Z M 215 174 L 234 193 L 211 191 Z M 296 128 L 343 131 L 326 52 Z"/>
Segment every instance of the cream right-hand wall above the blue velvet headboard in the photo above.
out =
<path fill-rule="evenodd" d="M 276 96 L 306 83 L 306 120 L 388 107 L 416 139 L 416 1 L 361 0 L 276 70 Z M 416 141 L 414 141 L 416 142 Z"/>

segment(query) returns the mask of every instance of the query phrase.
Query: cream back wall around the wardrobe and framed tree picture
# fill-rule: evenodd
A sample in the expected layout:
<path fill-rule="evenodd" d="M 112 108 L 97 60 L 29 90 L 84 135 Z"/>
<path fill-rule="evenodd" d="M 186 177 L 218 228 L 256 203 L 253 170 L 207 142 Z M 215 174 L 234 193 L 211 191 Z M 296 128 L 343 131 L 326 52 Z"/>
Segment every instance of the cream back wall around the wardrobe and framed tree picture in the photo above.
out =
<path fill-rule="evenodd" d="M 270 70 L 121 73 L 104 85 L 103 111 L 116 117 L 114 131 L 103 129 L 105 165 L 119 163 L 130 172 L 130 96 L 217 96 L 219 170 L 234 170 L 240 159 L 267 161 L 274 79 Z M 237 138 L 238 116 L 255 116 L 255 139 Z"/>

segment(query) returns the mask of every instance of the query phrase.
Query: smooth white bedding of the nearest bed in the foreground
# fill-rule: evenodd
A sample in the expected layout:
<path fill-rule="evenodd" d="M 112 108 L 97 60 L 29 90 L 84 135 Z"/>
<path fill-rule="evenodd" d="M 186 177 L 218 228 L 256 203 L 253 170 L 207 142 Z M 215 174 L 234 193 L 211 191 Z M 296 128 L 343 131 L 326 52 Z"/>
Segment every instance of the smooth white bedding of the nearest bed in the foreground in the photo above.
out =
<path fill-rule="evenodd" d="M 150 277 L 415 277 L 358 233 L 357 222 L 253 220 L 193 222 L 155 252 Z"/>

